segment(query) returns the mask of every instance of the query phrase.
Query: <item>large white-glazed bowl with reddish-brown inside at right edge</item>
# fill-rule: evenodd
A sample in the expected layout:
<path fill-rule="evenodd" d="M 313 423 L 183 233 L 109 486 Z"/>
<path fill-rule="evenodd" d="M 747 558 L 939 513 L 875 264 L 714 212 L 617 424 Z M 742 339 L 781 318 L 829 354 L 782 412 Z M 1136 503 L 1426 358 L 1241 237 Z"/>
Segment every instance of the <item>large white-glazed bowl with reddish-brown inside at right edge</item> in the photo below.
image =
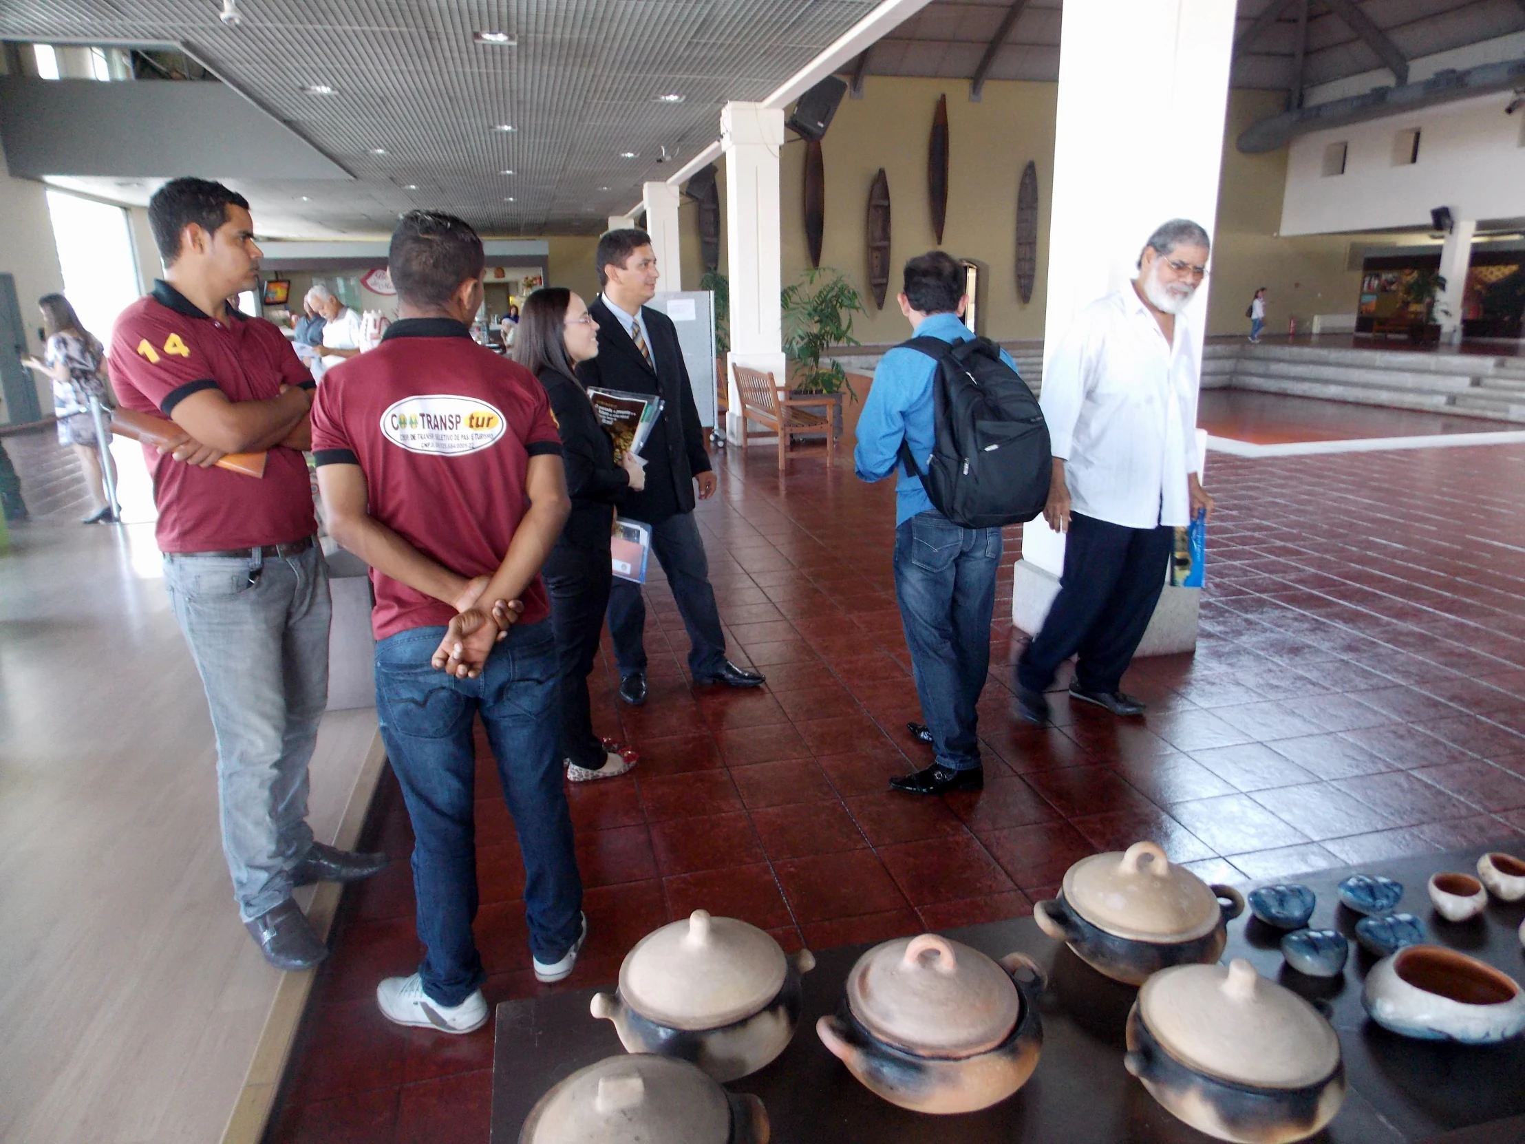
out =
<path fill-rule="evenodd" d="M 1441 946 L 1409 946 L 1379 961 L 1360 999 L 1379 1025 L 1420 1040 L 1491 1045 L 1525 1031 L 1519 982 Z"/>

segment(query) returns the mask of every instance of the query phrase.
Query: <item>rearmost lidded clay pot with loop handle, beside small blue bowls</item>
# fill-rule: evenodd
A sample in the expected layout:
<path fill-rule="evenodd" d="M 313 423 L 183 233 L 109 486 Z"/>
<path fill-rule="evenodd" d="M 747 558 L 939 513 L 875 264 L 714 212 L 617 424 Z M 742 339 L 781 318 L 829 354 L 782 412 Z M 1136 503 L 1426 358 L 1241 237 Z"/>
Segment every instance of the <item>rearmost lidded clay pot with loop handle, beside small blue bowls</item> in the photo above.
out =
<path fill-rule="evenodd" d="M 1217 961 L 1229 920 L 1243 911 L 1244 895 L 1232 886 L 1209 886 L 1156 844 L 1135 842 L 1077 862 L 1032 918 L 1098 972 L 1141 985 L 1170 966 Z"/>

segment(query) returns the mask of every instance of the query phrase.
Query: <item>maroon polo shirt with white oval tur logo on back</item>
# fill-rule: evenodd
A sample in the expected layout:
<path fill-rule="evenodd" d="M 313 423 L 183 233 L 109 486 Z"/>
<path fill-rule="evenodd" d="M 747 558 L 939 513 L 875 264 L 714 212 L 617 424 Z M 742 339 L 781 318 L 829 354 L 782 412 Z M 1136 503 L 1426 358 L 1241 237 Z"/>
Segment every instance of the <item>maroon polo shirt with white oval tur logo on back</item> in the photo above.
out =
<path fill-rule="evenodd" d="M 462 577 L 503 563 L 541 453 L 561 453 L 544 387 L 451 319 L 395 322 L 380 346 L 323 374 L 313 404 L 317 464 L 360 465 L 371 516 Z M 377 639 L 456 615 L 375 569 L 371 583 Z M 520 624 L 551 615 L 540 577 L 522 599 Z"/>

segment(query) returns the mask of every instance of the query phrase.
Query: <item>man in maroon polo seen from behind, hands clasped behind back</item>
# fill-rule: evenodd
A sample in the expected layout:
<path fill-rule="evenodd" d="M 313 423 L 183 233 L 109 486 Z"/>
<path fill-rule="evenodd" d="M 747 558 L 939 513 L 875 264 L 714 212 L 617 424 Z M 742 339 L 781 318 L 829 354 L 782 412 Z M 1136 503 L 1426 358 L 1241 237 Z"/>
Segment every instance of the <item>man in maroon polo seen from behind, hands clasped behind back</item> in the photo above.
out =
<path fill-rule="evenodd" d="M 413 822 L 424 961 L 381 981 L 377 1002 L 445 1033 L 488 1019 L 471 935 L 476 715 L 525 859 L 535 976 L 570 975 L 587 937 L 540 583 L 570 509 L 561 439 L 534 374 L 471 340 L 483 261 L 459 218 L 407 214 L 389 253 L 398 320 L 329 369 L 313 406 L 329 529 L 372 569 L 377 714 Z"/>

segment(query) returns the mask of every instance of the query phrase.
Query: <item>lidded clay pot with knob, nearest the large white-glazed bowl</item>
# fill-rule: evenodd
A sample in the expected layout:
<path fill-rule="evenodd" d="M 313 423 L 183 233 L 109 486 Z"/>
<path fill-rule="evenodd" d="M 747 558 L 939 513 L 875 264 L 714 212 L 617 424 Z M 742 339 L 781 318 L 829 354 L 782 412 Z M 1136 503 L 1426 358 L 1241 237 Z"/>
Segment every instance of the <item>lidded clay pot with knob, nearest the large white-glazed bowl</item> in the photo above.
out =
<path fill-rule="evenodd" d="M 1151 976 L 1128 1013 L 1127 1042 L 1127 1071 L 1167 1112 L 1217 1139 L 1305 1139 L 1345 1101 L 1334 1030 L 1243 958 Z"/>

